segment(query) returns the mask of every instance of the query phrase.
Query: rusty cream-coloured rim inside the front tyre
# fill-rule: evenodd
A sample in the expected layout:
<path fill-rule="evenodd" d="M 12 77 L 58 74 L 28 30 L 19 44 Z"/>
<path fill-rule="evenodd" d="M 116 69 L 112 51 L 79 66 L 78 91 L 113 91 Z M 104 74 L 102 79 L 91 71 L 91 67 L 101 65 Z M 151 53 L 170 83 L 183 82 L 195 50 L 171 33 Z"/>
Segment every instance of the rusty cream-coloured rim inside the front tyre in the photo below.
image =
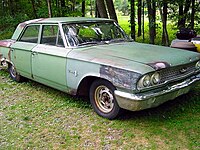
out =
<path fill-rule="evenodd" d="M 104 85 L 98 86 L 95 90 L 95 103 L 103 113 L 109 113 L 114 106 L 114 97 L 109 88 Z"/>

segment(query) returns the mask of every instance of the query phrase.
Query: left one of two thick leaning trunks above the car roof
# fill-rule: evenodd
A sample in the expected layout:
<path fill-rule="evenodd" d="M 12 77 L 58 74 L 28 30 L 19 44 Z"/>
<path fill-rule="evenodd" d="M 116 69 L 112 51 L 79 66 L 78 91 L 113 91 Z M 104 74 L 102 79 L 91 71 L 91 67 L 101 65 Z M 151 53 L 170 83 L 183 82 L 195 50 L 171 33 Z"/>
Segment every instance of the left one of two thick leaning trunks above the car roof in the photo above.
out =
<path fill-rule="evenodd" d="M 101 18 L 108 18 L 108 14 L 106 11 L 106 6 L 104 3 L 104 0 L 96 0 L 96 4 L 97 4 L 97 11 L 100 15 Z"/>

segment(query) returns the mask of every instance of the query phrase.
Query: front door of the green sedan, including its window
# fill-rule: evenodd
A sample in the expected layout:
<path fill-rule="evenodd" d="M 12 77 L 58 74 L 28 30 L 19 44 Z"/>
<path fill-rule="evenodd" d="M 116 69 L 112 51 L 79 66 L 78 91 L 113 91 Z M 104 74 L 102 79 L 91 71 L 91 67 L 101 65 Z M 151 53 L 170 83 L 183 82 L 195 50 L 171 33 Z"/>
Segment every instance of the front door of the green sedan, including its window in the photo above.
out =
<path fill-rule="evenodd" d="M 58 25 L 42 25 L 40 44 L 32 49 L 34 80 L 66 91 L 66 57 L 70 50 L 64 47 Z"/>

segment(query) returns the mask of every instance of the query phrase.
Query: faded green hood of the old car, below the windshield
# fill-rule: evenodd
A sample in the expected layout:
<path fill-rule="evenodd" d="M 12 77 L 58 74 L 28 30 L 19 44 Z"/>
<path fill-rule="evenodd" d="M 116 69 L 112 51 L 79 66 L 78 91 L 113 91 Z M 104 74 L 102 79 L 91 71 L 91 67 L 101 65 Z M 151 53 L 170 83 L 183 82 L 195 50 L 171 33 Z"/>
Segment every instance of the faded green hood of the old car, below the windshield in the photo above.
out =
<path fill-rule="evenodd" d="M 77 59 L 123 68 L 126 66 L 131 70 L 137 66 L 153 68 L 152 64 L 159 62 L 176 66 L 200 59 L 200 54 L 196 52 L 137 42 L 82 47 L 71 53 Z"/>

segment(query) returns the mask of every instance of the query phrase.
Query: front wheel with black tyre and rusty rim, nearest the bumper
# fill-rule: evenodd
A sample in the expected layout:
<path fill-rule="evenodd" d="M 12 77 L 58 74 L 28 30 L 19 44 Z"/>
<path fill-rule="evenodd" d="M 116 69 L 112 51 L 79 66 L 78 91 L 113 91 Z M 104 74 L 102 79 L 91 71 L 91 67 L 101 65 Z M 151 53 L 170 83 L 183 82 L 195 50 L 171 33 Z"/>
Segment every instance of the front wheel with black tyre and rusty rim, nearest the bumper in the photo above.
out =
<path fill-rule="evenodd" d="M 121 112 L 115 96 L 115 87 L 108 81 L 95 80 L 90 87 L 90 103 L 94 111 L 104 118 L 115 119 Z"/>

